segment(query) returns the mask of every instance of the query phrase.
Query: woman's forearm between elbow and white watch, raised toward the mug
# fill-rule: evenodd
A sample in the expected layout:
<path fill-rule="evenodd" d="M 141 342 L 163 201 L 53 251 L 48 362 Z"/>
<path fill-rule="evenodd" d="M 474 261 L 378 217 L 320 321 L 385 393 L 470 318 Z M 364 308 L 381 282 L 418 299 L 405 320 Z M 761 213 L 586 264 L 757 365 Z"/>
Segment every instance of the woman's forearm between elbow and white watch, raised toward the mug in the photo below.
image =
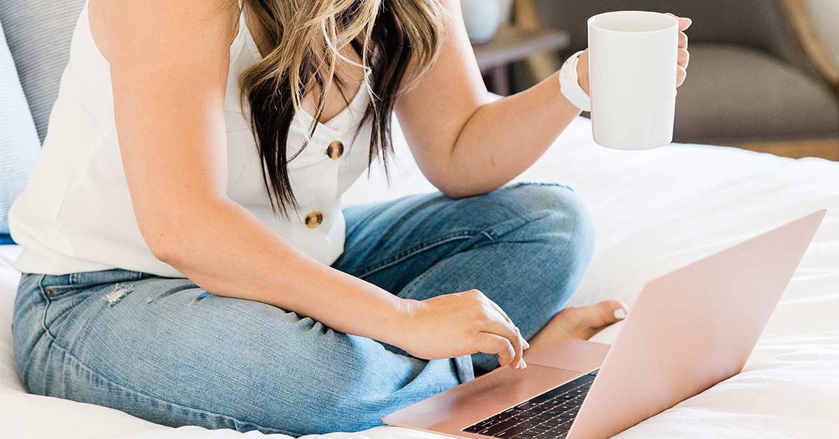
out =
<path fill-rule="evenodd" d="M 461 128 L 441 182 L 449 196 L 503 186 L 545 153 L 580 109 L 560 92 L 558 74 L 510 97 L 483 104 Z"/>

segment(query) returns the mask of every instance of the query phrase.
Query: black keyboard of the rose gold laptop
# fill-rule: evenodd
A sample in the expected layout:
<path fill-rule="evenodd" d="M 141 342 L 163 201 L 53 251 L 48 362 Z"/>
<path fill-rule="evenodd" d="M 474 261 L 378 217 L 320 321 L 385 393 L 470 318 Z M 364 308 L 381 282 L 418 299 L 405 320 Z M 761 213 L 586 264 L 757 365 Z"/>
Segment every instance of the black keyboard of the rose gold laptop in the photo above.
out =
<path fill-rule="evenodd" d="M 598 370 L 467 426 L 463 431 L 500 439 L 565 437 Z"/>

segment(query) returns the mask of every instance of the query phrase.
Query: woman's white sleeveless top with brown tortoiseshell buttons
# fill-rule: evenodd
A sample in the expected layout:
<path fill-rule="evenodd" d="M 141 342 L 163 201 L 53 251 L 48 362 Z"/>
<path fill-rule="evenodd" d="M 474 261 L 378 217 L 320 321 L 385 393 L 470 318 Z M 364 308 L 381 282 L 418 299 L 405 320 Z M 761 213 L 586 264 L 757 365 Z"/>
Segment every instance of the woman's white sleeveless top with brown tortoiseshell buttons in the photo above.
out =
<path fill-rule="evenodd" d="M 117 144 L 110 70 L 94 44 L 87 11 L 85 5 L 76 24 L 44 147 L 9 213 L 12 236 L 23 246 L 15 266 L 39 274 L 118 268 L 185 277 L 155 259 L 140 235 Z M 300 208 L 288 217 L 275 215 L 249 114 L 239 99 L 238 78 L 261 55 L 243 14 L 239 22 L 225 97 L 227 196 L 295 248 L 331 264 L 344 247 L 341 195 L 367 169 L 369 124 L 355 134 L 369 102 L 368 88 L 362 86 L 343 112 L 320 123 L 308 146 L 289 162 Z M 289 157 L 305 143 L 311 122 L 306 112 L 295 115 Z"/>

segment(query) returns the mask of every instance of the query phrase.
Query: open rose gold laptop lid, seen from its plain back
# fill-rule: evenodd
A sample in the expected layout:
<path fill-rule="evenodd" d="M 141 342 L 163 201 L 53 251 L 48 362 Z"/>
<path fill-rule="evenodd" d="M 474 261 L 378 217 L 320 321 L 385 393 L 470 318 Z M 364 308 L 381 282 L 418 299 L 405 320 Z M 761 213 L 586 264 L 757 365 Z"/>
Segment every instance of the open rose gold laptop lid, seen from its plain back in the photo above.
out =
<path fill-rule="evenodd" d="M 738 374 L 825 214 L 645 285 L 568 438 L 616 435 Z"/>

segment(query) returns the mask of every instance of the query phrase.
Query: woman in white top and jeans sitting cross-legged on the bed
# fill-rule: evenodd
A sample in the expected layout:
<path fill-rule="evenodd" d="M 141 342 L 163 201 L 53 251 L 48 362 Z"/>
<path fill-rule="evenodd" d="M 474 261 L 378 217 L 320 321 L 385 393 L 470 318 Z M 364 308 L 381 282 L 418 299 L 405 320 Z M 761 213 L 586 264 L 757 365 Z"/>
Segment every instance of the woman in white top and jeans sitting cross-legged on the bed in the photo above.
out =
<path fill-rule="evenodd" d="M 341 210 L 393 110 L 442 194 Z M 457 0 L 90 0 L 12 212 L 21 377 L 299 436 L 591 337 L 626 310 L 563 310 L 591 259 L 581 201 L 501 188 L 579 113 L 556 76 L 489 102 Z"/>

